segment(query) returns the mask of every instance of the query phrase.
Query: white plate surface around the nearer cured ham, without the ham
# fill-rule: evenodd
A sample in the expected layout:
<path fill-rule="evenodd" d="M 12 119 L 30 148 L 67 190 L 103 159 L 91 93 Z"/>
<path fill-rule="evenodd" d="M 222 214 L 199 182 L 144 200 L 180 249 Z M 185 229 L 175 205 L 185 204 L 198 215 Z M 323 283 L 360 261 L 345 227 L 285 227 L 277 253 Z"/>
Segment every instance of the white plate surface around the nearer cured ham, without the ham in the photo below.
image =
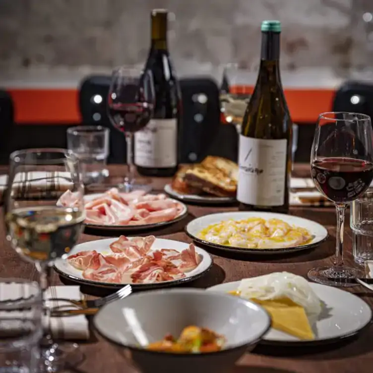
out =
<path fill-rule="evenodd" d="M 90 241 L 85 242 L 83 244 L 79 244 L 75 246 L 70 252 L 69 255 L 77 254 L 80 251 L 85 250 L 96 250 L 102 254 L 109 254 L 111 252 L 109 245 L 117 241 L 118 238 L 110 238 L 105 240 L 97 240 L 97 241 Z M 164 240 L 157 238 L 155 239 L 150 252 L 156 249 L 175 249 L 178 251 L 182 251 L 187 249 L 188 244 L 185 242 L 174 241 L 174 240 Z M 157 282 L 152 284 L 131 284 L 133 288 L 136 289 L 155 289 L 161 288 L 165 286 L 173 286 L 182 284 L 184 282 L 192 281 L 197 279 L 198 277 L 202 276 L 206 271 L 208 271 L 212 266 L 212 259 L 208 252 L 198 247 L 195 247 L 195 251 L 202 257 L 201 262 L 197 266 L 197 268 L 193 269 L 190 272 L 186 272 L 186 277 L 178 279 L 178 280 L 171 280 L 171 281 L 164 281 L 164 282 Z M 122 288 L 125 284 L 113 284 L 108 282 L 100 282 L 100 281 L 92 281 L 83 278 L 82 271 L 74 268 L 70 265 L 67 259 L 57 259 L 55 262 L 55 270 L 65 278 L 73 280 L 75 282 L 85 284 L 85 285 L 92 285 L 98 287 L 106 287 L 106 288 Z"/>

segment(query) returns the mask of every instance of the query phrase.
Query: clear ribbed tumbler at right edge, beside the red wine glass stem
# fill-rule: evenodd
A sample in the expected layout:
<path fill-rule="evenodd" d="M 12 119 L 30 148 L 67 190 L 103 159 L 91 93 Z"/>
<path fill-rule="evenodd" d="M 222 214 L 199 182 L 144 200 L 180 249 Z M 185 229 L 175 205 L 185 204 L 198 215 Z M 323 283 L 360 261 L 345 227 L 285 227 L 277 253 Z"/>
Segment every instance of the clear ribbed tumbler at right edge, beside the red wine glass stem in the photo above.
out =
<path fill-rule="evenodd" d="M 373 260 L 373 191 L 367 191 L 351 203 L 352 254 L 355 263 Z"/>

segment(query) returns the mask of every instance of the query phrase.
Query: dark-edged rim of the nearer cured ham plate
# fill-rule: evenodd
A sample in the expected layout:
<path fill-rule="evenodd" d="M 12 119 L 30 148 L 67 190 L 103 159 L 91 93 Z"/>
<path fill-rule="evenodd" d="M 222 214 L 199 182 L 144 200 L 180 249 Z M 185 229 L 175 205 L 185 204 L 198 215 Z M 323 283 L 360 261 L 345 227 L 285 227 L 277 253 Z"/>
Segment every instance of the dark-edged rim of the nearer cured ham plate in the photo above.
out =
<path fill-rule="evenodd" d="M 132 238 L 132 237 L 128 237 L 128 238 Z M 109 241 L 109 240 L 114 241 L 116 239 L 118 239 L 118 238 L 112 237 L 112 238 L 106 238 L 106 239 L 101 239 L 101 240 L 99 239 L 99 240 L 93 240 L 93 241 L 86 241 L 86 242 L 82 242 L 81 244 L 87 244 L 87 243 L 90 243 L 90 242 L 97 242 L 97 241 Z M 169 239 L 163 239 L 163 238 L 160 239 L 160 238 L 157 238 L 157 237 L 156 237 L 156 240 L 167 240 L 167 241 L 175 241 L 175 242 L 183 243 L 182 241 L 169 240 Z M 81 245 L 81 244 L 79 244 L 79 245 Z M 188 245 L 187 243 L 185 243 L 185 244 Z M 78 246 L 78 245 L 76 245 L 76 246 Z M 94 287 L 98 287 L 98 288 L 121 289 L 125 285 L 131 285 L 131 287 L 133 289 L 136 289 L 136 290 L 140 290 L 140 289 L 144 289 L 144 290 L 159 289 L 159 288 L 166 288 L 166 287 L 170 287 L 170 286 L 174 286 L 174 285 L 176 286 L 176 285 L 180 285 L 180 284 L 183 284 L 183 283 L 186 283 L 186 282 L 194 281 L 194 280 L 202 277 L 203 275 L 205 275 L 207 272 L 209 272 L 211 270 L 211 268 L 214 264 L 214 261 L 212 259 L 211 254 L 209 252 L 207 252 L 205 249 L 202 249 L 200 247 L 198 247 L 198 249 L 204 251 L 204 253 L 207 255 L 206 256 L 207 260 L 209 260 L 208 266 L 205 270 L 203 270 L 202 272 L 196 273 L 192 276 L 189 276 L 189 277 L 184 277 L 184 278 L 180 278 L 180 279 L 177 279 L 177 280 L 169 280 L 169 281 L 163 281 L 163 282 L 150 283 L 150 284 L 132 284 L 132 283 L 115 284 L 115 283 L 110 283 L 110 282 L 87 280 L 87 279 L 80 278 L 80 277 L 70 275 L 68 273 L 63 272 L 60 268 L 58 268 L 56 266 L 56 264 L 53 265 L 53 269 L 60 276 L 62 276 L 64 278 L 67 278 L 68 280 L 78 282 L 78 283 L 81 283 L 83 285 L 89 285 L 89 286 L 94 286 Z M 62 259 L 62 260 L 66 260 L 66 259 Z"/>

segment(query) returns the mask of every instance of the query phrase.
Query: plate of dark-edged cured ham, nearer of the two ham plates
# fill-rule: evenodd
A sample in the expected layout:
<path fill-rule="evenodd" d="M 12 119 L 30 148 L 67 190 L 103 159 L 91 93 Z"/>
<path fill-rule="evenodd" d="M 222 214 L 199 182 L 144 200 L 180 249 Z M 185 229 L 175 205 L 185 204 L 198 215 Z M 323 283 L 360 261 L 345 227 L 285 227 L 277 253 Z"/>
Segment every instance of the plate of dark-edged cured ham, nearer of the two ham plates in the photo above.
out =
<path fill-rule="evenodd" d="M 188 282 L 212 266 L 210 254 L 193 244 L 154 236 L 86 242 L 57 259 L 65 278 L 93 286 L 159 288 Z"/>

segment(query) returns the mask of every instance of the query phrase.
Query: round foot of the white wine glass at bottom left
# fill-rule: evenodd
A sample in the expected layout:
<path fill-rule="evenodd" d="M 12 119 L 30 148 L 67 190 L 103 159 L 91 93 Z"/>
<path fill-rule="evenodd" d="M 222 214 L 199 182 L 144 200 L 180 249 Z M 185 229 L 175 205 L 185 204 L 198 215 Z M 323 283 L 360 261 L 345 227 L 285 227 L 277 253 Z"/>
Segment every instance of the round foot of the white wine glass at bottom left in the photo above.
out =
<path fill-rule="evenodd" d="M 39 371 L 42 373 L 55 373 L 63 371 L 68 362 L 77 362 L 80 359 L 79 345 L 76 343 L 53 343 L 50 346 L 41 346 Z"/>

